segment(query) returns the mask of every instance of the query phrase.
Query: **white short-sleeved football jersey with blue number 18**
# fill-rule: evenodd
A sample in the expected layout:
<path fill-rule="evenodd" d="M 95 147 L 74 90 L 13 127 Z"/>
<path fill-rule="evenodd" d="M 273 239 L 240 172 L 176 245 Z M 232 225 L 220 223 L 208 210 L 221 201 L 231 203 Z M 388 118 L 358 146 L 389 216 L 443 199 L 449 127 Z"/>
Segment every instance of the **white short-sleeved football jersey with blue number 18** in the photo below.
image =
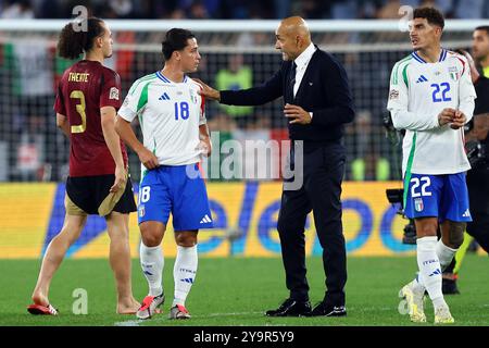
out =
<path fill-rule="evenodd" d="M 128 122 L 139 117 L 143 145 L 160 164 L 193 164 L 201 154 L 197 149 L 199 126 L 206 122 L 200 89 L 188 76 L 174 83 L 156 72 L 133 84 L 118 114 Z M 145 170 L 141 164 L 141 171 Z"/>

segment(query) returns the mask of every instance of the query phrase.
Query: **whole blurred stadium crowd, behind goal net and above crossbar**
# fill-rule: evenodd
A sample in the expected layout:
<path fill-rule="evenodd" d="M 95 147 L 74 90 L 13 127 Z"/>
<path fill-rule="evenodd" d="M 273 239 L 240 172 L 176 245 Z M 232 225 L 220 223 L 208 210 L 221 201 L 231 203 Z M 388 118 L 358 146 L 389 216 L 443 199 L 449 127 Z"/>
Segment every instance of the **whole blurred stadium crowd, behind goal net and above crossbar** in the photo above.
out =
<path fill-rule="evenodd" d="M 489 12 L 489 1 L 482 0 L 0 0 L 0 18 L 68 18 L 76 5 L 102 18 L 281 18 L 290 14 L 399 18 L 401 3 L 435 4 L 452 18 L 477 18 Z M 57 83 L 73 61 L 55 54 L 58 34 L 0 33 L 0 182 L 63 181 L 66 176 L 68 144 L 55 127 L 52 104 Z M 117 47 L 106 63 L 121 75 L 123 96 L 135 79 L 162 66 L 163 35 L 114 33 Z M 260 84 L 280 64 L 273 32 L 203 32 L 198 38 L 202 61 L 196 77 L 218 89 Z M 452 44 L 469 39 L 469 33 L 450 34 Z M 406 33 L 313 33 L 313 41 L 342 62 L 353 92 L 356 116 L 344 137 L 346 178 L 400 179 L 400 147 L 386 139 L 383 119 L 389 72 L 411 49 Z M 210 129 L 220 132 L 221 145 L 288 138 L 280 100 L 254 108 L 208 103 L 206 116 Z M 139 161 L 131 152 L 129 163 L 137 181 Z"/>

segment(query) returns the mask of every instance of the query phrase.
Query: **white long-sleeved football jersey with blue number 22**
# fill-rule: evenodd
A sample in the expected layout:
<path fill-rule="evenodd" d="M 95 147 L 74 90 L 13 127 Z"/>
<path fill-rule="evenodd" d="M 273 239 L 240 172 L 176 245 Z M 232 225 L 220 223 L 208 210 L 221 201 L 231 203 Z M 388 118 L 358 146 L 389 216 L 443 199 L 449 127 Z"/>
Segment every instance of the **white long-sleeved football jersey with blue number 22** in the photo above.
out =
<path fill-rule="evenodd" d="M 467 60 L 442 49 L 439 61 L 427 63 L 416 52 L 392 69 L 387 109 L 397 129 L 405 129 L 402 172 L 454 174 L 471 165 L 464 149 L 464 130 L 440 126 L 446 108 L 462 111 L 467 122 L 474 113 L 476 92 Z"/>

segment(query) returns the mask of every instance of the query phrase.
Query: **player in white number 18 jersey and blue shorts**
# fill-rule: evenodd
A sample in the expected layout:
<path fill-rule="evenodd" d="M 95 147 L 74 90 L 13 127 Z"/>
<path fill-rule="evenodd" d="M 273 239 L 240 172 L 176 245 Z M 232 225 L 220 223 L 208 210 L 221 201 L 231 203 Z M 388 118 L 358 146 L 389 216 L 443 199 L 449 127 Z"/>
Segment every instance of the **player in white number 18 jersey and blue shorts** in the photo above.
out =
<path fill-rule="evenodd" d="M 204 99 L 198 94 L 200 85 L 186 75 L 199 66 L 196 37 L 189 30 L 174 28 L 166 33 L 162 46 L 163 70 L 134 83 L 118 111 L 116 129 L 141 161 L 138 222 L 141 268 L 149 295 L 137 316 L 151 318 L 164 302 L 161 241 L 172 213 L 177 257 L 170 319 L 188 319 L 185 301 L 197 273 L 197 234 L 200 228 L 212 227 L 205 185 L 198 169 L 200 156 L 210 154 L 211 142 Z M 130 127 L 136 116 L 143 144 Z"/>

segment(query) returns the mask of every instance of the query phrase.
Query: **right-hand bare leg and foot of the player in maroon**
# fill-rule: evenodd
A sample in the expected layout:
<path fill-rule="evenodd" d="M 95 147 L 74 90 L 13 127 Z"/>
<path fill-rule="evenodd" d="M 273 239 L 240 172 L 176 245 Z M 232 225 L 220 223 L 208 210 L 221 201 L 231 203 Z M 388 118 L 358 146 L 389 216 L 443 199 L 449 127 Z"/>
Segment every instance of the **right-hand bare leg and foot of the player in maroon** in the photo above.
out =
<path fill-rule="evenodd" d="M 134 314 L 139 302 L 133 297 L 129 247 L 129 214 L 112 212 L 106 217 L 110 246 L 110 263 L 117 285 L 118 314 Z"/>

